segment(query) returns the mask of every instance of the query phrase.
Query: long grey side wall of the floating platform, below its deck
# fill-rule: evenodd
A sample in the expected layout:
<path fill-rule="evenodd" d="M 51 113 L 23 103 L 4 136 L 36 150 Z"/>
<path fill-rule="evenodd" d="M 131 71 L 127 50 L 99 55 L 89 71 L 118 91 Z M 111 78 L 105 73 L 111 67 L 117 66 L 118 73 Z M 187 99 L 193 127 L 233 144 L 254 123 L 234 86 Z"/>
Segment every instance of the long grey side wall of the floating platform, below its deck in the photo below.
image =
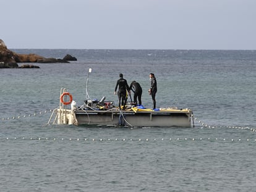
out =
<path fill-rule="evenodd" d="M 190 112 L 77 111 L 79 125 L 129 125 L 133 127 L 191 127 Z"/>

